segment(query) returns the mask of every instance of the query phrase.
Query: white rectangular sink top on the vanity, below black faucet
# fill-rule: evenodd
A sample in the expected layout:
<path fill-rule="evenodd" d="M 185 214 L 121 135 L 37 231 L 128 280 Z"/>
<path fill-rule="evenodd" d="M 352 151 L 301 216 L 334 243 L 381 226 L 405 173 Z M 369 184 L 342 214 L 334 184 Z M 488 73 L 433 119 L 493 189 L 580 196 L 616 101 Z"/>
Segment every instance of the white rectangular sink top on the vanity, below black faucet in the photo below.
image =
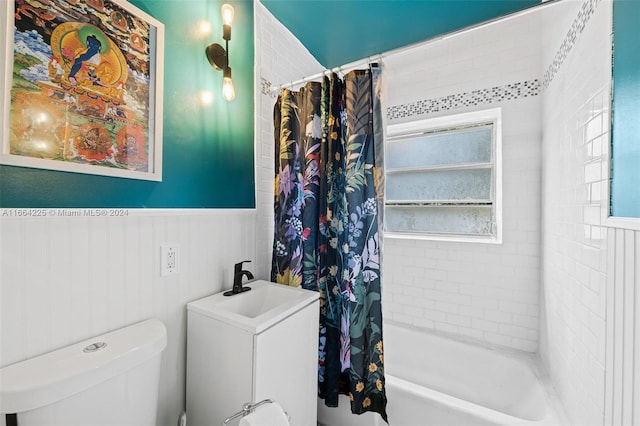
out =
<path fill-rule="evenodd" d="M 187 309 L 257 334 L 318 301 L 315 291 L 268 281 L 245 286 L 251 291 L 233 296 L 217 293 L 189 303 Z"/>

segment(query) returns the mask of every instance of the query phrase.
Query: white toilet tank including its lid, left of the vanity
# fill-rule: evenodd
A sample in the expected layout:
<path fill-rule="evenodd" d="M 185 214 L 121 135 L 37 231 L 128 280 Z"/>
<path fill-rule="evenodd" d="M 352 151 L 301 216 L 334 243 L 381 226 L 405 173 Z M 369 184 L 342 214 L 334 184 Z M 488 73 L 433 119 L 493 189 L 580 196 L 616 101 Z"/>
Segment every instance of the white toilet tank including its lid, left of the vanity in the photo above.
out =
<path fill-rule="evenodd" d="M 166 345 L 150 319 L 4 367 L 0 424 L 155 426 Z"/>

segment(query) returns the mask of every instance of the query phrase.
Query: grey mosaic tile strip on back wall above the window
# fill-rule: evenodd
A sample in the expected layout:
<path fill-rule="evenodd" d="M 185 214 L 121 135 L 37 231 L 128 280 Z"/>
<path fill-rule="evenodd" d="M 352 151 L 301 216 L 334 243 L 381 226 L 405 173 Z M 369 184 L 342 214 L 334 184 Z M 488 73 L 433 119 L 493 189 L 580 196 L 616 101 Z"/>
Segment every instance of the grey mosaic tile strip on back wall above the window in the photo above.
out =
<path fill-rule="evenodd" d="M 387 108 L 387 118 L 412 117 L 414 115 L 431 114 L 456 108 L 489 104 L 494 102 L 511 101 L 520 98 L 537 96 L 540 94 L 538 79 L 521 81 L 518 83 L 496 86 L 488 89 L 473 90 L 471 92 L 456 93 L 441 98 L 424 99 Z"/>

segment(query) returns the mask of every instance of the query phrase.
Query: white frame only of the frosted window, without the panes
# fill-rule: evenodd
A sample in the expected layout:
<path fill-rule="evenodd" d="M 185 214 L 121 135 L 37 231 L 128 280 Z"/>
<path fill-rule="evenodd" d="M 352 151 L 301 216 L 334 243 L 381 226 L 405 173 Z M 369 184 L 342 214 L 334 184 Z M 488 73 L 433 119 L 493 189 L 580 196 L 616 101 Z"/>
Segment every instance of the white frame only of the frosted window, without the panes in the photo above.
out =
<path fill-rule="evenodd" d="M 385 157 L 387 157 L 387 149 L 389 143 L 394 139 L 405 138 L 411 135 L 423 135 L 425 133 L 445 131 L 448 129 L 454 129 L 456 127 L 475 126 L 481 124 L 493 125 L 493 140 L 492 140 L 492 213 L 495 222 L 495 230 L 492 235 L 470 235 L 470 234 L 455 234 L 455 233 L 434 233 L 434 232 L 399 232 L 399 231 L 387 231 L 386 219 L 385 219 L 385 231 L 384 236 L 389 238 L 398 239 L 413 239 L 413 240 L 434 240 L 434 241 L 458 241 L 458 242 L 479 242 L 490 244 L 502 244 L 502 108 L 491 108 L 481 111 L 465 112 L 460 114 L 450 114 L 446 116 L 440 116 L 435 118 L 427 118 L 421 120 L 413 120 L 404 123 L 388 124 L 386 126 L 386 141 L 385 141 Z M 486 166 L 485 166 L 486 167 Z M 467 168 L 465 165 L 450 167 L 453 169 Z M 473 168 L 470 165 L 469 168 Z M 434 167 L 433 170 L 437 170 L 438 167 Z M 396 173 L 402 173 L 395 171 Z M 389 170 L 385 168 L 385 195 L 384 195 L 384 208 L 392 207 L 387 204 L 387 191 L 386 181 Z M 392 172 L 393 173 L 393 172 Z M 469 202 L 460 202 L 451 204 L 455 205 L 473 205 Z M 428 206 L 425 206 L 428 208 Z M 387 214 L 385 212 L 385 218 Z"/>

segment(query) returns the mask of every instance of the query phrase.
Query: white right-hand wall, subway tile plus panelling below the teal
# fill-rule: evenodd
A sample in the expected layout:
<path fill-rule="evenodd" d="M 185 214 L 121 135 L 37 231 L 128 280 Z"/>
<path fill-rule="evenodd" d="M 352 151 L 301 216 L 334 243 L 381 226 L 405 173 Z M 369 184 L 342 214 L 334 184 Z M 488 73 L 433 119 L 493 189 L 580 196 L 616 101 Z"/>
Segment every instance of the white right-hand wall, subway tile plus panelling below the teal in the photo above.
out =
<path fill-rule="evenodd" d="M 612 1 L 547 18 L 540 353 L 574 424 L 637 424 L 640 232 L 607 218 Z"/>

